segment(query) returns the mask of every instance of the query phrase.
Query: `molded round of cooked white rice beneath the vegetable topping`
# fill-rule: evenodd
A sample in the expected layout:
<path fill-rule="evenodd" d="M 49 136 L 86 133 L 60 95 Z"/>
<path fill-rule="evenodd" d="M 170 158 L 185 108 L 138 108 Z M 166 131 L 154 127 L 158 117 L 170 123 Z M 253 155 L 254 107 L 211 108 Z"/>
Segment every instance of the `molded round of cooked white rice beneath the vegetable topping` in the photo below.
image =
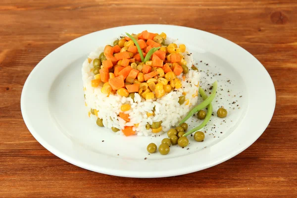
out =
<path fill-rule="evenodd" d="M 173 42 L 178 44 L 176 40 L 166 39 L 167 44 Z M 90 112 L 91 108 L 99 110 L 98 117 L 103 119 L 103 125 L 106 128 L 115 127 L 124 129 L 125 126 L 134 126 L 133 129 L 138 136 L 155 135 L 152 133 L 151 129 L 146 129 L 147 123 L 152 124 L 152 122 L 162 121 L 162 131 L 158 134 L 168 131 L 172 126 L 177 126 L 178 122 L 190 111 L 193 105 L 196 105 L 198 97 L 200 74 L 190 69 L 194 64 L 194 60 L 192 55 L 187 55 L 187 50 L 183 55 L 188 62 L 187 66 L 189 67 L 189 72 L 185 75 L 185 81 L 182 79 L 183 73 L 178 76 L 182 82 L 182 88 L 177 91 L 171 91 L 168 94 L 166 93 L 165 96 L 155 101 L 143 99 L 139 94 L 135 93 L 135 102 L 133 102 L 131 98 L 121 97 L 118 94 L 109 95 L 109 97 L 107 97 L 106 94 L 101 93 L 101 87 L 94 88 L 91 86 L 91 81 L 94 79 L 94 74 L 91 72 L 91 69 L 94 68 L 93 60 L 99 57 L 103 48 L 98 48 L 96 51 L 91 52 L 89 55 L 89 58 L 92 59 L 91 63 L 86 59 L 82 68 L 84 91 L 86 95 L 85 102 L 88 111 Z M 184 104 L 180 105 L 178 100 L 179 97 L 183 95 L 183 92 L 186 93 L 186 101 Z M 126 122 L 118 116 L 121 112 L 121 105 L 124 103 L 131 105 L 131 110 L 125 111 L 125 113 L 129 113 L 130 122 Z M 155 107 L 154 115 L 148 117 L 147 112 L 152 113 L 153 107 Z M 94 124 L 96 124 L 97 116 L 93 114 L 90 116 L 94 119 Z M 138 127 L 135 127 L 135 124 L 139 124 Z M 116 132 L 116 134 L 123 133 L 120 130 Z"/>

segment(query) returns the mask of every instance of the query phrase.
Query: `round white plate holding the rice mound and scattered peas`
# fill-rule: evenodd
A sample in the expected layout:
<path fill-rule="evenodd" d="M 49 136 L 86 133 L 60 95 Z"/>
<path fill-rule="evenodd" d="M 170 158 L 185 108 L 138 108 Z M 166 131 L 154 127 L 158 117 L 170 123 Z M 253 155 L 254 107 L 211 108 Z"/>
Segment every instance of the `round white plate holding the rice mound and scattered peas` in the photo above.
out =
<path fill-rule="evenodd" d="M 81 80 L 83 61 L 91 51 L 111 44 L 119 35 L 143 30 L 165 32 L 189 47 L 198 63 L 196 66 L 203 70 L 203 88 L 218 80 L 218 94 L 212 102 L 214 116 L 203 129 L 207 132 L 205 140 L 198 143 L 191 137 L 189 149 L 171 146 L 167 155 L 158 152 L 148 155 L 148 143 L 159 145 L 166 134 L 119 136 L 99 128 L 87 115 Z M 228 110 L 226 119 L 216 116 L 221 105 Z M 50 152 L 88 170 L 139 178 L 182 175 L 230 159 L 264 132 L 274 108 L 273 82 L 255 57 L 219 36 L 171 25 L 123 26 L 77 38 L 38 63 L 21 96 L 21 110 L 28 129 Z M 190 127 L 198 122 L 194 118 L 189 122 Z"/>

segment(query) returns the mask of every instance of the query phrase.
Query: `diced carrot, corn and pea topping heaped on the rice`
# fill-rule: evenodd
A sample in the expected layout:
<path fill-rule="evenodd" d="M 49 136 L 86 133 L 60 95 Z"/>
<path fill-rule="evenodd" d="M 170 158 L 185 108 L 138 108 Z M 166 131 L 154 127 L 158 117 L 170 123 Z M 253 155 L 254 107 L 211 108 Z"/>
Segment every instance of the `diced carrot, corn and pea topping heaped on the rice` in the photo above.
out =
<path fill-rule="evenodd" d="M 144 99 L 158 99 L 182 87 L 177 76 L 189 71 L 181 54 L 185 45 L 166 45 L 163 32 L 126 34 L 128 37 L 105 46 L 99 58 L 93 60 L 92 87 L 102 87 L 101 92 L 107 96 L 117 93 L 133 98 L 134 93 L 139 93 Z"/>

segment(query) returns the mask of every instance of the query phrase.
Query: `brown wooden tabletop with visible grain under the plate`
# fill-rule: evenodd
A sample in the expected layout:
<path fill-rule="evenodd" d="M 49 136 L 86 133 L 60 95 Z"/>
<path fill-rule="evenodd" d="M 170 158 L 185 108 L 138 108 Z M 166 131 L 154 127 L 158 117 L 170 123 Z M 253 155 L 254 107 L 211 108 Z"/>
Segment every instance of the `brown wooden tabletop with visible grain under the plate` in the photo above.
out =
<path fill-rule="evenodd" d="M 80 1 L 0 1 L 0 197 L 297 197 L 296 0 Z M 263 135 L 222 164 L 161 179 L 91 172 L 42 147 L 20 111 L 21 91 L 35 65 L 77 37 L 140 23 L 197 28 L 252 53 L 268 70 L 277 96 Z"/>

